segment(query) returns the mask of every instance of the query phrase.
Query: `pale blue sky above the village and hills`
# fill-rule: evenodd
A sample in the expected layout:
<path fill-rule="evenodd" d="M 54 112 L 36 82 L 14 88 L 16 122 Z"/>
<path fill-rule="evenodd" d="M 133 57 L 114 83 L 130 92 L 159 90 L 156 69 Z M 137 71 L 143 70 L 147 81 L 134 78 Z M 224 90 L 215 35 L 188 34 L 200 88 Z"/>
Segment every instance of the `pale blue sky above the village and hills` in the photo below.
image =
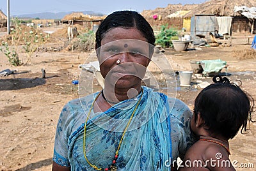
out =
<path fill-rule="evenodd" d="M 9 0 L 10 15 L 61 11 L 95 11 L 105 15 L 116 10 L 154 10 L 166 7 L 168 4 L 200 4 L 206 0 Z M 0 10 L 7 15 L 8 0 L 0 0 Z"/>

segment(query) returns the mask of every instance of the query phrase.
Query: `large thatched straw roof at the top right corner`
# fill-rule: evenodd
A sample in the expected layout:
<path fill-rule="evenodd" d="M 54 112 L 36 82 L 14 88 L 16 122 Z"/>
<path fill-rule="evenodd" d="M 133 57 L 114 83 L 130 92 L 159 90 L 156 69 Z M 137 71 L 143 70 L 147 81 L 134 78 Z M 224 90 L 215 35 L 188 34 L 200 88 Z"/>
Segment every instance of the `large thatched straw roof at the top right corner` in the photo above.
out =
<path fill-rule="evenodd" d="M 193 8 L 184 18 L 199 14 L 214 14 L 216 16 L 240 16 L 234 12 L 235 6 L 256 6 L 255 0 L 210 0 Z"/>

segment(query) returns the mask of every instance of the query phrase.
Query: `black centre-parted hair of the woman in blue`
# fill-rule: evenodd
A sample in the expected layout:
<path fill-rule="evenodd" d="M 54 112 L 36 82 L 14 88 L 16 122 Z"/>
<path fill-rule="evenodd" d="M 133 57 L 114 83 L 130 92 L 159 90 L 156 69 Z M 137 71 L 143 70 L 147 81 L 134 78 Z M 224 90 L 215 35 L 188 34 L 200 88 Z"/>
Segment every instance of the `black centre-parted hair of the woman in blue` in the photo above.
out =
<path fill-rule="evenodd" d="M 95 49 L 101 46 L 101 40 L 104 38 L 104 34 L 106 34 L 109 29 L 113 29 L 115 27 L 122 27 L 122 28 L 136 28 L 138 29 L 141 34 L 147 39 L 148 43 L 153 45 L 156 41 L 154 36 L 154 31 L 150 24 L 148 24 L 147 20 L 142 17 L 136 11 L 115 11 L 104 19 L 99 28 L 96 32 L 96 45 Z"/>

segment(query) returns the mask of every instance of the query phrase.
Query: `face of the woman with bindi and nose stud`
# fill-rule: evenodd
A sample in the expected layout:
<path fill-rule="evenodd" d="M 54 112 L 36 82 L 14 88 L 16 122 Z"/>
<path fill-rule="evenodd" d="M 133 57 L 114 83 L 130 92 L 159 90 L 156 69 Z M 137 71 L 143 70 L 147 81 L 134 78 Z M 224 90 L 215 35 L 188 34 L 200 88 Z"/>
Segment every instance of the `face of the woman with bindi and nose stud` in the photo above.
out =
<path fill-rule="evenodd" d="M 105 84 L 140 86 L 150 62 L 149 43 L 136 28 L 116 27 L 104 34 L 98 58 Z"/>

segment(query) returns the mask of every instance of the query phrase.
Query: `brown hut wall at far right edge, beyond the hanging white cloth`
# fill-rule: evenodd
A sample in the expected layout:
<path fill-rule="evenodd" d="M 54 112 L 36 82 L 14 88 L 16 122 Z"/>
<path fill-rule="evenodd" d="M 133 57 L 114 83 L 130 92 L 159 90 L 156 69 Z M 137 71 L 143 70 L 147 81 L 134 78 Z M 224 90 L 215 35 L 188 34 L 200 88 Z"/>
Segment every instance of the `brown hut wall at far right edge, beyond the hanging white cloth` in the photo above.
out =
<path fill-rule="evenodd" d="M 251 33 L 252 22 L 246 17 L 232 17 L 232 32 L 234 33 Z M 256 23 L 254 22 L 254 31 L 256 32 Z"/>

